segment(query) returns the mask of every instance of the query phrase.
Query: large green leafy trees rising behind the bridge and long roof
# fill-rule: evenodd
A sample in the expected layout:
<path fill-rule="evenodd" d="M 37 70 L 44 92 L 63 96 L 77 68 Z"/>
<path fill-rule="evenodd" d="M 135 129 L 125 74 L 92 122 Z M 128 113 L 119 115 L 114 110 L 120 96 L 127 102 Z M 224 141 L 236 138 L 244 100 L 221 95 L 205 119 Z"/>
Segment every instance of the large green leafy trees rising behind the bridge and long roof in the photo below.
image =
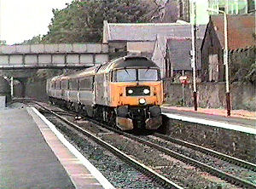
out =
<path fill-rule="evenodd" d="M 139 0 L 73 1 L 66 9 L 53 9 L 48 43 L 96 43 L 102 41 L 103 20 L 114 23 L 146 22 L 147 5 Z"/>

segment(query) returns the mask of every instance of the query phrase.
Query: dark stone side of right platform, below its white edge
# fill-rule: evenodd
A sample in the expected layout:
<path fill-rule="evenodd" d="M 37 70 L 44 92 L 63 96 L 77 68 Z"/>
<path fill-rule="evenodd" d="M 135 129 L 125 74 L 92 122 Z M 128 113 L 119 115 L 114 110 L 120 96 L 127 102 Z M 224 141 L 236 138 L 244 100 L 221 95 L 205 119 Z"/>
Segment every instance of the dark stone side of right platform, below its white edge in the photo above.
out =
<path fill-rule="evenodd" d="M 164 117 L 163 132 L 173 138 L 256 163 L 256 135 Z"/>

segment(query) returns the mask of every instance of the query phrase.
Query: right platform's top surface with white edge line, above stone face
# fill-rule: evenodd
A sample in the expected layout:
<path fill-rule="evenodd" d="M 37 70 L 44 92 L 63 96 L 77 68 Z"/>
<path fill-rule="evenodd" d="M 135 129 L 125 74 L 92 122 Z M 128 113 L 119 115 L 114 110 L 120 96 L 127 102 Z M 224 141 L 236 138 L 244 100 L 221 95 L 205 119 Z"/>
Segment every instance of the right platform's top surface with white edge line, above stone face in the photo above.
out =
<path fill-rule="evenodd" d="M 224 129 L 233 129 L 256 135 L 256 120 L 242 117 L 226 117 L 223 115 L 195 112 L 192 110 L 161 107 L 164 115 L 170 118 L 182 119 L 192 123 L 202 123 Z"/>

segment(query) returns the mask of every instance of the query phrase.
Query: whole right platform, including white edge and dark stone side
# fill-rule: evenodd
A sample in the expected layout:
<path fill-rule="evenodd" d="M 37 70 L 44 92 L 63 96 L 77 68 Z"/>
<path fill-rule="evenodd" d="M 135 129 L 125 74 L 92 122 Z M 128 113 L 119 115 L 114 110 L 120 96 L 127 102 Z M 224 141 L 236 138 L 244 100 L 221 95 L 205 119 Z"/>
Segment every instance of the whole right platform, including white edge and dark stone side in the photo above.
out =
<path fill-rule="evenodd" d="M 255 112 L 163 106 L 163 132 L 172 138 L 205 146 L 255 163 Z"/>

